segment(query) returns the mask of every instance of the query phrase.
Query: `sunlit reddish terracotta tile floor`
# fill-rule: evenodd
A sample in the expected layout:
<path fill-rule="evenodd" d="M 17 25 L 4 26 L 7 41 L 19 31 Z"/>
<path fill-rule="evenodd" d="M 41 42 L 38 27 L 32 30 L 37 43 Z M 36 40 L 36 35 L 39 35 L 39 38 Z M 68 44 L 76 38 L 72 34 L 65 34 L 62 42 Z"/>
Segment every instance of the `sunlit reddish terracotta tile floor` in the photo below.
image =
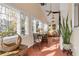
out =
<path fill-rule="evenodd" d="M 52 44 L 43 42 L 39 43 L 39 46 L 35 44 L 34 46 L 23 50 L 21 54 L 24 56 L 66 56 L 59 47 L 58 41 L 52 41 Z"/>

